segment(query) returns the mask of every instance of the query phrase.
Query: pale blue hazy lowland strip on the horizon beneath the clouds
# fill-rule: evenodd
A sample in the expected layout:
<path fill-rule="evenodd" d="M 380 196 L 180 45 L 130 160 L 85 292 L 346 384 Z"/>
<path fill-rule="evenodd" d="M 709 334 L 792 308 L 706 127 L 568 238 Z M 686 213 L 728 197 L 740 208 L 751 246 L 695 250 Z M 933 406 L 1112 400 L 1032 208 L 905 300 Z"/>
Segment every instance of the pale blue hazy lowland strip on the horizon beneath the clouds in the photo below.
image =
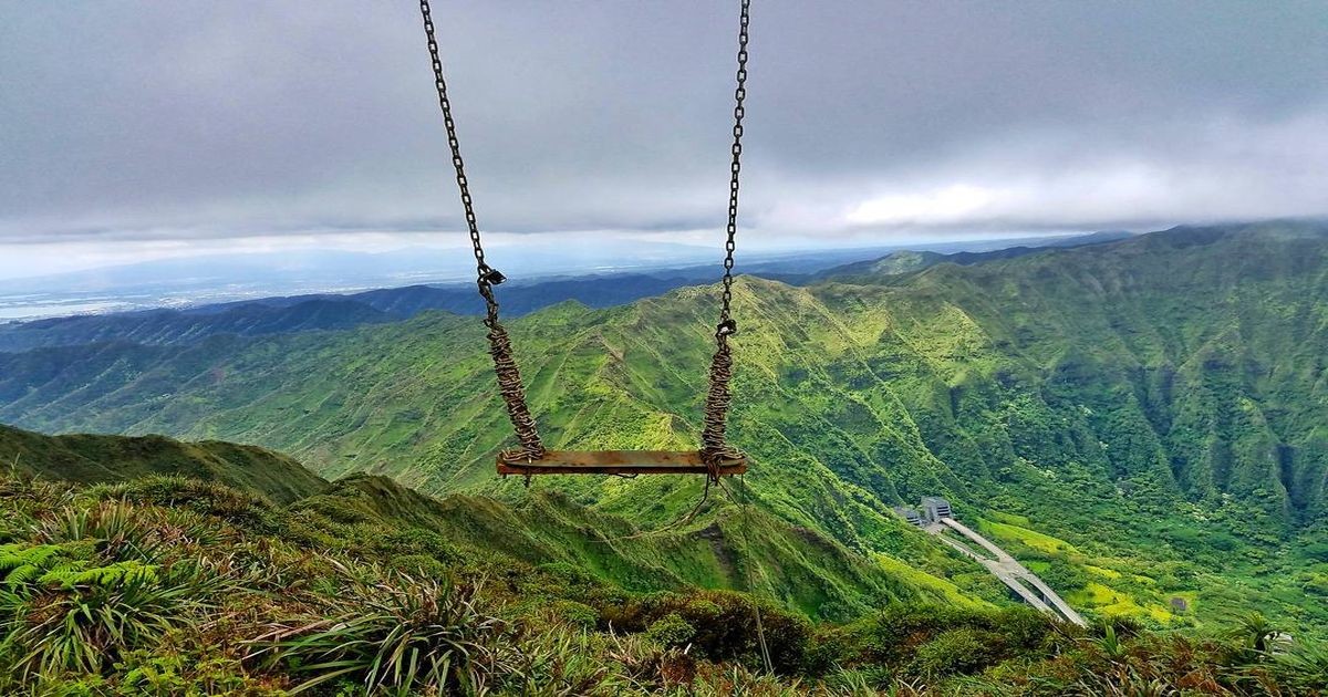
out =
<path fill-rule="evenodd" d="M 948 254 L 989 251 L 1015 244 L 1056 244 L 1074 236 L 980 239 L 922 244 Z M 834 266 L 871 259 L 900 247 L 798 251 L 742 250 L 744 273 L 805 276 Z M 491 258 L 514 281 L 560 277 L 652 275 L 717 277 L 720 252 L 689 244 L 606 240 L 554 240 L 534 236 L 495 250 Z M 402 285 L 465 287 L 474 275 L 469 250 L 418 247 L 390 252 L 336 250 L 252 252 L 161 259 L 50 276 L 0 280 L 0 321 L 70 315 L 183 308 L 276 296 L 352 293 Z"/>

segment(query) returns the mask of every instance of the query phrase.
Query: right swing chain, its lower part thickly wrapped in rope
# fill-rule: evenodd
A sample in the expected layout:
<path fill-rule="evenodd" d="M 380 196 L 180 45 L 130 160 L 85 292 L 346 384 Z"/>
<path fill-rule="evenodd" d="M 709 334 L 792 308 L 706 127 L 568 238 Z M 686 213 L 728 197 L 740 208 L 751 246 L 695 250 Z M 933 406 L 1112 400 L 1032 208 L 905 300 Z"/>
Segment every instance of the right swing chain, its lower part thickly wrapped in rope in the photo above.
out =
<path fill-rule="evenodd" d="M 718 477 L 718 463 L 724 458 L 741 454 L 728 446 L 725 438 L 729 405 L 733 392 L 733 352 L 729 337 L 736 335 L 738 325 L 733 321 L 730 304 L 733 301 L 733 251 L 738 232 L 738 174 L 742 171 L 742 117 L 746 116 L 746 61 L 748 24 L 750 23 L 752 0 L 742 0 L 742 13 L 738 24 L 738 72 L 737 88 L 733 90 L 733 162 L 729 166 L 729 224 L 728 239 L 724 243 L 724 280 L 720 296 L 720 323 L 714 327 L 714 357 L 710 360 L 710 389 L 705 397 L 705 427 L 701 431 L 701 453 L 710 469 L 710 477 Z"/>

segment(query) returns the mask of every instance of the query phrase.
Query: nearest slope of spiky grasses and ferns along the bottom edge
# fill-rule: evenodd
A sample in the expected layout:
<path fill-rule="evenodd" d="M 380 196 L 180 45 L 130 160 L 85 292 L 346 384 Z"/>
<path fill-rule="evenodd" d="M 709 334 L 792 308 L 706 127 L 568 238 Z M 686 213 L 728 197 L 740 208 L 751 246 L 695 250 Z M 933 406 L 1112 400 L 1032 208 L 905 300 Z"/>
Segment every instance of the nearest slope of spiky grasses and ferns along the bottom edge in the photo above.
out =
<path fill-rule="evenodd" d="M 458 503 L 477 507 L 364 475 L 278 506 L 182 477 L 84 487 L 0 473 L 0 693 L 1244 696 L 1328 685 L 1328 652 L 1276 639 L 1256 615 L 1207 639 L 1133 623 L 1086 633 L 1027 608 L 919 601 L 813 624 L 742 593 L 636 593 L 574 564 L 523 563 L 486 535 L 440 532 L 456 530 Z"/>

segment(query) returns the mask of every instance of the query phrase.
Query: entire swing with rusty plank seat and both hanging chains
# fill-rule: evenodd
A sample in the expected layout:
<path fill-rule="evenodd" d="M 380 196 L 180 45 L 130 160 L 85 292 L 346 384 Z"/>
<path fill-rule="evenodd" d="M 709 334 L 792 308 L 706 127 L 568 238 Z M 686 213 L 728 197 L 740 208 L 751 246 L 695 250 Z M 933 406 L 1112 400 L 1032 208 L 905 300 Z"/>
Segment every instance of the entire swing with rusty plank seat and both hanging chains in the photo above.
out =
<path fill-rule="evenodd" d="M 521 477 L 537 474 L 618 474 L 624 477 L 635 477 L 637 474 L 703 474 L 710 481 L 717 482 L 720 477 L 746 471 L 746 455 L 729 447 L 725 442 L 725 421 L 728 418 L 729 404 L 733 398 L 729 392 L 729 381 L 733 377 L 733 356 L 729 347 L 729 337 L 737 333 L 737 323 L 732 319 L 729 305 L 733 299 L 733 251 L 736 250 L 734 238 L 738 227 L 738 173 L 741 171 L 742 117 L 745 114 L 744 100 L 746 98 L 749 5 L 750 0 L 741 0 L 737 86 L 733 93 L 736 104 L 733 108 L 733 146 L 730 149 L 733 161 L 729 167 L 728 236 L 724 246 L 720 321 L 714 329 L 716 352 L 710 361 L 710 385 L 705 400 L 705 427 L 701 433 L 701 449 L 583 451 L 546 450 L 535 427 L 535 420 L 526 405 L 526 390 L 521 381 L 521 370 L 517 368 L 517 361 L 513 356 L 511 339 L 498 319 L 498 300 L 494 296 L 494 285 L 503 283 L 506 277 L 485 262 L 485 250 L 479 240 L 479 226 L 471 204 L 465 162 L 461 158 L 461 146 L 457 139 L 457 127 L 452 118 L 452 101 L 448 97 L 448 82 L 442 72 L 442 58 L 438 54 L 432 9 L 429 0 L 420 0 L 420 13 L 424 19 L 425 36 L 429 44 L 429 60 L 433 64 L 434 88 L 438 93 L 438 106 L 442 110 L 442 121 L 448 133 L 448 147 L 452 150 L 452 165 L 457 173 L 457 189 L 461 194 L 466 228 L 470 234 L 470 243 L 475 256 L 475 283 L 486 307 L 485 327 L 489 328 L 489 354 L 494 361 L 498 392 L 507 406 L 507 416 L 517 433 L 517 439 L 521 441 L 519 449 L 498 454 L 498 474 L 515 474 Z"/>

